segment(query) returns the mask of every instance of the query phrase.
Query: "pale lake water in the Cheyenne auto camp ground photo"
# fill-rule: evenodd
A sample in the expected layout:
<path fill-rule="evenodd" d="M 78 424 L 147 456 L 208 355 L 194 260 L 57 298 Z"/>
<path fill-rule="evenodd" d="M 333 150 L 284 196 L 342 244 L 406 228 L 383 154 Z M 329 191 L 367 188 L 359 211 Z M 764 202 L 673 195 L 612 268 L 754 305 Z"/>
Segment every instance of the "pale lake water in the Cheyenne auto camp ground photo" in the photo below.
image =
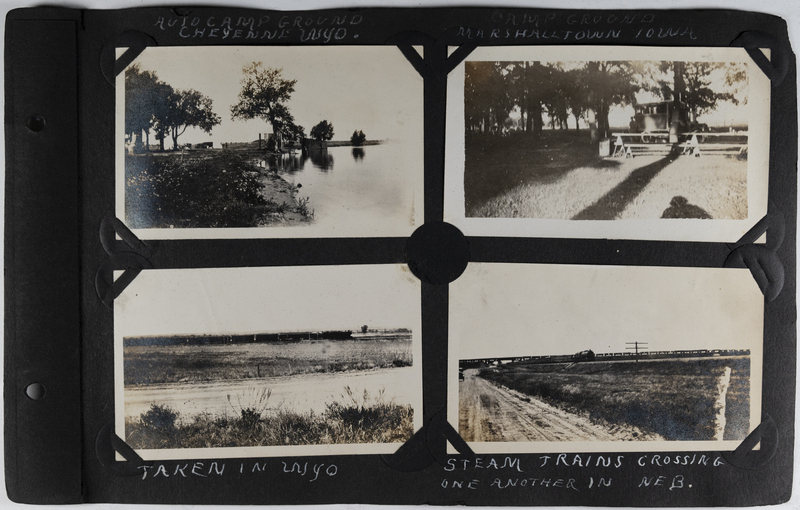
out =
<path fill-rule="evenodd" d="M 262 165 L 301 186 L 297 197 L 310 199 L 318 225 L 334 230 L 357 225 L 380 234 L 387 226 L 413 222 L 415 182 L 422 171 L 410 163 L 415 158 L 408 152 L 407 146 L 391 143 L 331 147 L 274 156 Z"/>

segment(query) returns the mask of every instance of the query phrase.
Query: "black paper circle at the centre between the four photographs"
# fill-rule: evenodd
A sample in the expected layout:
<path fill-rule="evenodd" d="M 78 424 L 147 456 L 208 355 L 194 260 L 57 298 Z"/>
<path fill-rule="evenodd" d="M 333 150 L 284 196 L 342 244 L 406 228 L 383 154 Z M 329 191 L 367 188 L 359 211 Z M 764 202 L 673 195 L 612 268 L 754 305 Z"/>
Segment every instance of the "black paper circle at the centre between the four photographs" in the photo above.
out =
<path fill-rule="evenodd" d="M 406 261 L 426 283 L 444 285 L 461 276 L 469 263 L 469 243 L 456 227 L 443 221 L 425 223 L 406 241 Z"/>

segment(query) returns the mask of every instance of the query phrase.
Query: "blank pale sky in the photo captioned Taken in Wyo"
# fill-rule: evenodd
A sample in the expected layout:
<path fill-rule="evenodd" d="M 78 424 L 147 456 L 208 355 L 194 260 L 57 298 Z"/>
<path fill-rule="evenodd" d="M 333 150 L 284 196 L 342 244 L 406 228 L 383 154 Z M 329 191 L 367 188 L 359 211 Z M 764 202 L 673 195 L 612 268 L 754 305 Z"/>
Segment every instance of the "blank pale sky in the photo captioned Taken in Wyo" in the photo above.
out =
<path fill-rule="evenodd" d="M 114 301 L 118 337 L 410 328 L 420 283 L 404 265 L 142 271 Z"/>

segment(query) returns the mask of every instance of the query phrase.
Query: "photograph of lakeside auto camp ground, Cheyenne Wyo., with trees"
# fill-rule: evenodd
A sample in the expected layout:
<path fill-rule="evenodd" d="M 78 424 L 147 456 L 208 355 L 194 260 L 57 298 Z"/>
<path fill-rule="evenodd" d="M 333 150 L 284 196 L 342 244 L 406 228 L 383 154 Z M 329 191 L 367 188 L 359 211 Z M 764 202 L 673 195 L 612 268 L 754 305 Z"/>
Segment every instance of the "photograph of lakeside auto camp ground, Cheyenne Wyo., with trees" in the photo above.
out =
<path fill-rule="evenodd" d="M 410 235 L 422 119 L 396 47 L 149 47 L 117 78 L 117 216 L 140 238 Z"/>

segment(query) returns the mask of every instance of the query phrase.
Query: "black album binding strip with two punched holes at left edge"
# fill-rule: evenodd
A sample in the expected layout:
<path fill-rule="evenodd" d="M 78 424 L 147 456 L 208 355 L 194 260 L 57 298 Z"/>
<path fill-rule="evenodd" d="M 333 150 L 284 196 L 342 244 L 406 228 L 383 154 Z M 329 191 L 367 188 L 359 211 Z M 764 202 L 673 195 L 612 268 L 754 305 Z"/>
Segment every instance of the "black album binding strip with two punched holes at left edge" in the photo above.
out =
<path fill-rule="evenodd" d="M 76 10 L 6 18 L 5 475 L 20 503 L 82 501 L 79 30 Z"/>

